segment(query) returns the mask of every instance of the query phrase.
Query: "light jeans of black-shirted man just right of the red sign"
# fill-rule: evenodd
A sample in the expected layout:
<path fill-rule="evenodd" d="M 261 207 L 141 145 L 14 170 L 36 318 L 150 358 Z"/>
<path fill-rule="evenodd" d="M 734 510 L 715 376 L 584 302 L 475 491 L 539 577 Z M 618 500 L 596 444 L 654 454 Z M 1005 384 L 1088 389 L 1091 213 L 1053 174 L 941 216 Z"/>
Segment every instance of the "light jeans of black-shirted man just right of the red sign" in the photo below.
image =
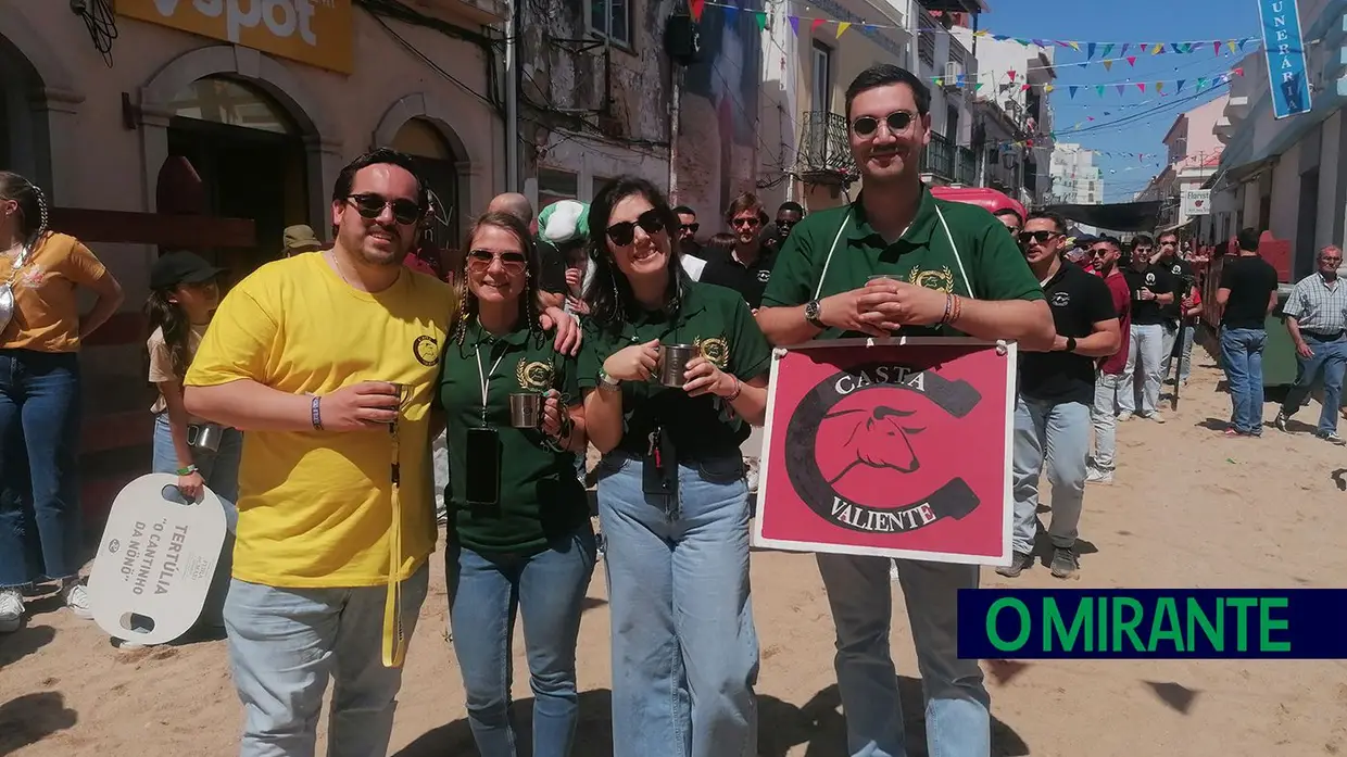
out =
<path fill-rule="evenodd" d="M 1052 484 L 1053 547 L 1071 548 L 1080 525 L 1090 453 L 1090 405 L 1020 397 L 1014 407 L 1014 531 L 1016 552 L 1033 554 L 1039 531 L 1039 477 L 1047 463 Z"/>

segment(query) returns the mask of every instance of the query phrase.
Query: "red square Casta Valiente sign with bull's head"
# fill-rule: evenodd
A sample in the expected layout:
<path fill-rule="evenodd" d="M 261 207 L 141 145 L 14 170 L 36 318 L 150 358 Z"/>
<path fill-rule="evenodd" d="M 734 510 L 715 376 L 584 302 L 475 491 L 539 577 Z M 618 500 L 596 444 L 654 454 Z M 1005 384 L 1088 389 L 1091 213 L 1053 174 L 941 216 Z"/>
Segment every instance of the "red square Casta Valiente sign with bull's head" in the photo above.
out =
<path fill-rule="evenodd" d="M 968 339 L 777 352 L 754 546 L 1009 564 L 1014 365 Z"/>

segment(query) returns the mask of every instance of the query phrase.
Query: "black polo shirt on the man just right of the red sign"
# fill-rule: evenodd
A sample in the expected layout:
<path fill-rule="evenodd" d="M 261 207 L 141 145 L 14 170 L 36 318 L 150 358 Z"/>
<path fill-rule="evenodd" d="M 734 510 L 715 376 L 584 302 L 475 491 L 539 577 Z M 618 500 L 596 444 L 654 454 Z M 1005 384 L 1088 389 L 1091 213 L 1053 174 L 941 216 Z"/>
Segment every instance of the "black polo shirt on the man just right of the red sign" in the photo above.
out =
<path fill-rule="evenodd" d="M 1103 279 L 1074 263 L 1061 263 L 1043 287 L 1061 337 L 1082 339 L 1094 325 L 1117 318 Z M 1095 358 L 1070 352 L 1026 352 L 1020 357 L 1020 393 L 1034 400 L 1094 404 Z"/>

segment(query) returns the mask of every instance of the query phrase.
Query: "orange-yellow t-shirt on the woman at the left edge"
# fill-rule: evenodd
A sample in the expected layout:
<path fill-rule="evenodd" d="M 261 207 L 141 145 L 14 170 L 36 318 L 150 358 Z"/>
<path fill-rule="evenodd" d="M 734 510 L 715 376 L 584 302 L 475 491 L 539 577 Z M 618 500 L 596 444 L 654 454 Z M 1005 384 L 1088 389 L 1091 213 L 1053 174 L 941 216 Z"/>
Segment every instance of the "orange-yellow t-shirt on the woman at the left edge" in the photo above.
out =
<path fill-rule="evenodd" d="M 23 263 L 19 253 L 0 255 L 0 282 L 13 277 L 13 321 L 0 334 L 0 348 L 35 352 L 79 349 L 78 287 L 93 286 L 106 272 L 79 240 L 46 234 Z"/>

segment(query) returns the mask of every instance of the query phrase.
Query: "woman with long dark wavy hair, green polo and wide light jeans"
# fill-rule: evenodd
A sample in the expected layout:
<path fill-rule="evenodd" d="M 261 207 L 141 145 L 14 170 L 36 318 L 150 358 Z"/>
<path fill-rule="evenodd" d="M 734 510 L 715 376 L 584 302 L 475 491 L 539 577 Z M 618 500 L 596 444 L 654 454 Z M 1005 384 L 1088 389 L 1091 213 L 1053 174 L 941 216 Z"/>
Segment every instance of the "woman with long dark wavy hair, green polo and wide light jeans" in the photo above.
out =
<path fill-rule="evenodd" d="M 678 218 L 649 182 L 605 186 L 590 229 L 579 384 L 603 453 L 613 754 L 757 754 L 740 445 L 762 423 L 772 349 L 738 292 L 683 273 Z M 664 385 L 657 348 L 680 343 L 698 357 Z"/>

